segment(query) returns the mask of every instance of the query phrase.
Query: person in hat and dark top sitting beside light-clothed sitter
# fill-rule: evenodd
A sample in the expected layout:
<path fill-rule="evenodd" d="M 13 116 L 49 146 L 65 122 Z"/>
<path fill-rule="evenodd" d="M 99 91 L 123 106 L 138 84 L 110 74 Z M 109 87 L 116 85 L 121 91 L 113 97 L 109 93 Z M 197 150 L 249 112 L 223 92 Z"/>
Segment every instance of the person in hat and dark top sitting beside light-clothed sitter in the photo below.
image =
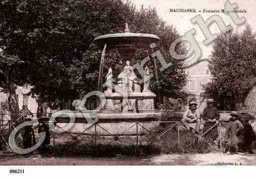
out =
<path fill-rule="evenodd" d="M 209 121 L 205 124 L 205 131 L 210 129 L 216 122 L 220 119 L 219 111 L 216 107 L 214 107 L 215 101 L 213 99 L 207 99 L 207 107 L 203 111 L 202 118 L 204 121 Z M 217 128 L 217 127 L 216 127 Z M 208 138 L 213 142 L 218 138 L 218 129 L 212 129 L 206 134 Z"/>

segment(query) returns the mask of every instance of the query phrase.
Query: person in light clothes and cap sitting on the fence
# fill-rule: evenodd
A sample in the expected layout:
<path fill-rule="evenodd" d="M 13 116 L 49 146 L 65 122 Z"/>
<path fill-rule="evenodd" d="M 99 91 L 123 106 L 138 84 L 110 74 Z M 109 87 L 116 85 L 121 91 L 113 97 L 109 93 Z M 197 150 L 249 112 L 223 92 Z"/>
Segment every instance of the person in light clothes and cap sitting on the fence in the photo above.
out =
<path fill-rule="evenodd" d="M 185 111 L 183 115 L 183 119 L 181 120 L 184 126 L 194 132 L 194 129 L 189 126 L 189 123 L 196 123 L 195 132 L 199 134 L 200 130 L 200 113 L 197 110 L 197 103 L 195 101 L 191 101 L 189 103 L 189 108 Z"/>

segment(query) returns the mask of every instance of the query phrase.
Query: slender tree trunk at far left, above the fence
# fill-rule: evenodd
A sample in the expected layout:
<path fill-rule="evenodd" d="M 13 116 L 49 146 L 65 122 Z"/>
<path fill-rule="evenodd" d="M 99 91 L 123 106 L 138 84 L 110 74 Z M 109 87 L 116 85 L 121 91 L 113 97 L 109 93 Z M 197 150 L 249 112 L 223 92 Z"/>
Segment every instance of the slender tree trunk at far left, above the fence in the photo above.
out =
<path fill-rule="evenodd" d="M 10 83 L 8 87 L 8 104 L 11 121 L 15 121 L 20 116 L 18 107 L 18 98 L 15 91 L 15 84 Z"/>

